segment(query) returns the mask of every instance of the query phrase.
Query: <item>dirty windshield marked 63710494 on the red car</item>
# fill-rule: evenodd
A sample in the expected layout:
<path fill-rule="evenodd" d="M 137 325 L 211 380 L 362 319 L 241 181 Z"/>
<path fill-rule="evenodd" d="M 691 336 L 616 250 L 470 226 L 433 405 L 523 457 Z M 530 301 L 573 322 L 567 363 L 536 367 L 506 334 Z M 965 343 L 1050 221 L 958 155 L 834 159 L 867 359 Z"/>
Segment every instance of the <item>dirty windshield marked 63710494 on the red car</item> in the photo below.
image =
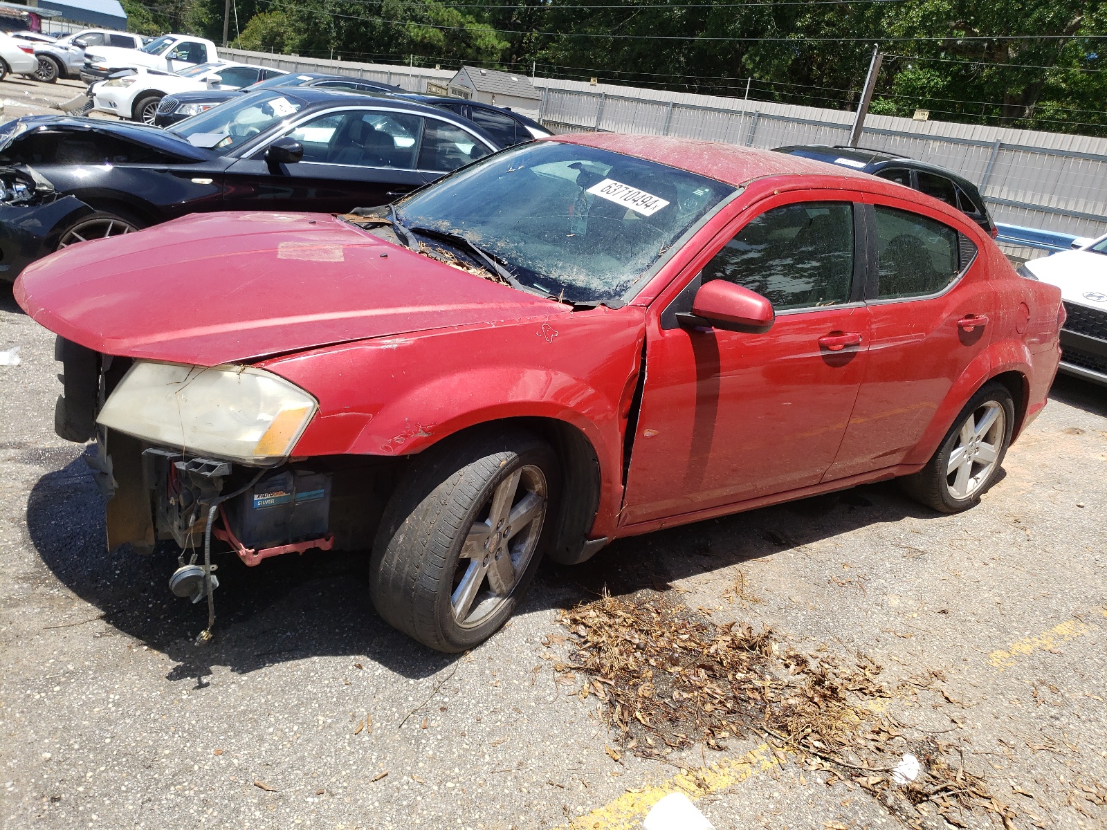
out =
<path fill-rule="evenodd" d="M 541 142 L 396 203 L 396 217 L 416 236 L 464 237 L 546 295 L 612 302 L 732 193 L 654 162 Z"/>

